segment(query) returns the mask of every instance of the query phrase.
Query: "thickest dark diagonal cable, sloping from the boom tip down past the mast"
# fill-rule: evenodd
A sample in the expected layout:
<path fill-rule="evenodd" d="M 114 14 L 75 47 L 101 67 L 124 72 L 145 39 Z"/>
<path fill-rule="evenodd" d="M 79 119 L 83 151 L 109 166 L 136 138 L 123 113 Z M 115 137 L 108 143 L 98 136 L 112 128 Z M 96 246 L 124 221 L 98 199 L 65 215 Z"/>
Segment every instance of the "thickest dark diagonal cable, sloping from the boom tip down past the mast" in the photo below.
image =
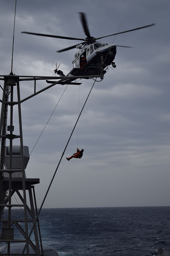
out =
<path fill-rule="evenodd" d="M 96 82 L 96 80 L 94 81 L 94 83 L 93 83 L 93 85 L 92 85 L 92 88 L 90 89 L 90 92 L 89 92 L 89 94 L 88 94 L 88 96 L 87 96 L 87 98 L 86 98 L 86 101 L 84 102 L 84 105 L 83 105 L 83 107 L 82 107 L 82 110 L 81 110 L 81 112 L 80 112 L 80 114 L 79 114 L 79 116 L 78 116 L 78 119 L 77 119 L 77 121 L 76 121 L 76 124 L 78 123 L 78 120 L 79 120 L 79 118 L 80 118 L 80 116 L 81 116 L 81 114 L 82 114 L 82 111 L 83 111 L 83 109 L 84 109 L 84 106 L 86 105 L 86 102 L 87 102 L 87 100 L 88 100 L 88 97 L 90 96 L 90 93 L 91 93 L 91 91 L 92 91 L 92 89 L 93 89 L 93 86 L 94 86 L 95 82 Z M 47 192 L 46 192 L 46 194 L 45 194 L 45 196 L 44 196 L 43 202 L 41 203 L 41 206 L 40 206 L 40 208 L 39 208 L 39 211 L 38 211 L 38 213 L 37 213 L 37 216 L 36 216 L 36 218 L 35 218 L 35 221 L 34 221 L 34 223 L 33 223 L 33 226 L 32 226 L 32 228 L 31 228 L 31 231 L 30 231 L 30 233 L 29 233 L 28 239 L 31 237 L 31 234 L 32 234 L 32 232 L 33 232 L 33 228 L 34 228 L 34 226 L 35 226 L 35 224 L 36 224 L 36 222 L 37 222 L 37 219 L 38 219 L 38 217 L 39 217 L 39 214 L 40 214 L 40 212 L 41 212 L 41 209 L 42 209 L 42 207 L 43 207 L 43 204 L 44 204 L 44 202 L 45 202 L 45 199 L 46 199 L 47 194 L 48 194 L 48 192 L 49 192 L 49 189 L 50 189 L 50 187 L 51 187 L 51 184 L 52 184 L 52 182 L 53 182 L 53 180 L 54 180 L 54 178 L 55 178 L 55 174 L 56 174 L 56 172 L 57 172 L 57 170 L 58 170 L 58 168 L 59 168 L 59 165 L 60 165 L 60 163 L 61 163 L 61 160 L 62 160 L 62 158 L 63 158 L 63 156 L 64 156 L 64 152 L 66 151 L 66 148 L 67 148 L 67 146 L 68 146 L 68 143 L 70 142 L 70 138 L 71 138 L 71 136 L 72 136 L 72 134 L 73 134 L 73 132 L 74 132 L 74 129 L 75 129 L 75 127 L 76 127 L 76 124 L 74 125 L 74 128 L 73 128 L 73 130 L 72 130 L 72 132 L 71 132 L 71 135 L 70 135 L 70 137 L 69 137 L 69 139 L 68 139 L 68 142 L 67 142 L 67 144 L 66 144 L 66 146 L 65 146 L 65 148 L 64 148 L 63 154 L 62 154 L 62 156 L 61 156 L 61 158 L 60 158 L 60 160 L 59 160 L 59 163 L 58 163 L 58 165 L 57 165 L 57 168 L 56 168 L 56 170 L 55 170 L 55 173 L 53 174 L 53 178 L 51 179 L 51 182 L 50 182 L 50 184 L 49 184 L 49 187 L 48 187 L 48 189 L 47 189 Z M 23 256 L 23 253 L 24 253 L 24 251 L 25 251 L 25 248 L 26 248 L 26 244 L 25 244 L 25 246 L 24 246 L 24 248 L 23 248 L 23 252 L 21 253 L 21 256 Z"/>

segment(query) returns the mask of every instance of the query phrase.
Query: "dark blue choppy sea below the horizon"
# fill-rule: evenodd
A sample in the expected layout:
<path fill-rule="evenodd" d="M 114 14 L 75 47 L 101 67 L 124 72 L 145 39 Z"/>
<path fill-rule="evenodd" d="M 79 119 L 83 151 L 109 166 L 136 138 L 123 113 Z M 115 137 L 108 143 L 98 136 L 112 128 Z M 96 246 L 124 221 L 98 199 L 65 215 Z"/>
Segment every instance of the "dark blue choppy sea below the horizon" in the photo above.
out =
<path fill-rule="evenodd" d="M 23 218 L 23 210 L 12 212 Z M 39 223 L 43 244 L 60 256 L 156 256 L 160 247 L 170 251 L 170 206 L 49 208 L 41 210 Z"/>

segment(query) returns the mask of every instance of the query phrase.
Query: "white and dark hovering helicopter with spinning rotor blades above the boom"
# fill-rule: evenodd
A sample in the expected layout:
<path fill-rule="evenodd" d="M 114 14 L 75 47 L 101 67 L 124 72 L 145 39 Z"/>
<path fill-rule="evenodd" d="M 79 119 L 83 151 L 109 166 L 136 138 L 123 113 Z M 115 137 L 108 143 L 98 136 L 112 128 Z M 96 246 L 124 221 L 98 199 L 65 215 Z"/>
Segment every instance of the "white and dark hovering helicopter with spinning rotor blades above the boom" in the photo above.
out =
<path fill-rule="evenodd" d="M 53 37 L 53 38 L 62 38 L 62 39 L 69 39 L 69 40 L 81 40 L 80 44 L 76 44 L 67 48 L 64 48 L 62 50 L 59 50 L 57 52 L 64 52 L 67 50 L 71 50 L 73 48 L 79 49 L 78 52 L 76 52 L 74 56 L 74 60 L 72 62 L 73 68 L 72 70 L 66 75 L 69 78 L 66 78 L 66 80 L 62 80 L 61 84 L 80 84 L 80 83 L 72 83 L 73 80 L 75 80 L 75 76 L 94 76 L 101 74 L 101 78 L 103 78 L 103 75 L 106 73 L 106 69 L 109 65 L 112 65 L 113 68 L 116 68 L 115 62 L 113 60 L 115 59 L 115 55 L 117 52 L 117 46 L 118 47 L 126 47 L 126 48 L 132 48 L 131 46 L 121 46 L 116 44 L 107 44 L 98 42 L 97 40 L 101 40 L 102 38 L 108 37 L 108 36 L 114 36 L 117 34 L 123 34 L 127 33 L 133 30 L 139 30 L 142 28 L 147 28 L 150 26 L 154 26 L 155 23 L 134 28 L 131 30 L 126 30 L 123 32 L 117 32 L 115 34 L 111 34 L 108 36 L 100 36 L 98 38 L 94 38 L 90 35 L 90 31 L 88 29 L 88 23 L 86 19 L 86 14 L 84 12 L 79 12 L 80 15 L 80 22 L 82 23 L 82 27 L 84 30 L 86 38 L 73 38 L 73 37 L 66 37 L 66 36 L 55 36 L 55 35 L 49 35 L 49 34 L 39 34 L 39 33 L 32 33 L 32 32 L 21 32 L 25 34 L 32 34 L 36 36 L 47 36 L 47 37 Z M 61 70 L 54 70 L 55 73 L 57 73 L 59 76 L 64 77 L 65 75 Z M 71 78 L 74 76 L 74 79 Z M 52 83 L 52 81 L 46 80 L 48 83 Z"/>

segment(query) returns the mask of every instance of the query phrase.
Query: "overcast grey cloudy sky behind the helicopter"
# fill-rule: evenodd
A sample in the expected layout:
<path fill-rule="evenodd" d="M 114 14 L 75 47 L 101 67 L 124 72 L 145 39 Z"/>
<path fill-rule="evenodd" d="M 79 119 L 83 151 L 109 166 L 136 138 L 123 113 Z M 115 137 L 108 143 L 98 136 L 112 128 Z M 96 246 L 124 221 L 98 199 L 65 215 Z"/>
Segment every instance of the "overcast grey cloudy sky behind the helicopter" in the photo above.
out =
<path fill-rule="evenodd" d="M 15 0 L 0 8 L 0 74 L 10 74 Z M 155 23 L 155 26 L 103 38 L 118 48 L 116 68 L 96 82 L 68 144 L 45 208 L 170 205 L 170 1 L 169 0 L 18 0 L 13 73 L 53 76 L 56 62 L 64 74 L 72 69 L 76 49 L 57 50 L 80 41 L 21 34 L 21 31 L 85 38 L 78 12 L 85 12 L 91 36 L 100 37 Z M 23 143 L 29 152 L 66 91 L 31 153 L 27 178 L 37 204 L 45 192 L 93 80 L 56 85 L 21 104 Z M 3 86 L 3 82 L 0 82 Z M 37 83 L 37 90 L 47 86 Z M 20 83 L 21 99 L 33 82 Z M 1 90 L 1 89 L 0 89 Z M 2 90 L 0 92 L 2 98 Z M 14 106 L 14 134 L 18 134 Z M 10 120 L 8 119 L 8 125 Z M 19 141 L 13 142 L 18 144 Z M 71 159 L 78 148 L 82 159 Z M 7 146 L 9 142 L 6 142 Z"/>

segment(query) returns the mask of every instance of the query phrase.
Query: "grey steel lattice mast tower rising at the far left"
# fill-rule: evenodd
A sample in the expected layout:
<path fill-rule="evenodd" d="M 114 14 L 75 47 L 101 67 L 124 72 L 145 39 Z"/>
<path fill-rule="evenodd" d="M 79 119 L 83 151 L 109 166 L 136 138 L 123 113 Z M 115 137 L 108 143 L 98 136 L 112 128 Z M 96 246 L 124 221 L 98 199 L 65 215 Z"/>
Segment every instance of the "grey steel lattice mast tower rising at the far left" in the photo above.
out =
<path fill-rule="evenodd" d="M 17 91 L 18 101 L 13 101 L 14 88 Z M 10 93 L 9 93 L 10 91 Z M 10 95 L 10 101 L 9 101 Z M 25 242 L 26 244 L 26 254 L 29 255 L 29 246 L 35 251 L 35 255 L 40 255 L 39 249 L 39 238 L 41 235 L 37 232 L 37 226 L 34 227 L 34 236 L 35 244 L 28 239 L 28 220 L 27 215 L 29 214 L 29 222 L 35 221 L 35 210 L 34 205 L 36 202 L 33 202 L 33 193 L 32 185 L 39 183 L 39 179 L 26 179 L 25 178 L 25 168 L 29 160 L 29 153 L 25 155 L 25 152 L 28 147 L 23 146 L 23 136 L 22 136 L 22 123 L 21 123 L 21 102 L 20 102 L 20 84 L 19 76 L 14 76 L 12 72 L 8 76 L 4 76 L 4 90 L 2 109 L 1 109 L 1 118 L 0 118 L 0 130 L 1 130 L 1 152 L 0 152 L 0 176 L 1 176 L 1 186 L 0 186 L 0 209 L 1 216 L 2 210 L 6 206 L 8 208 L 8 219 L 1 219 L 2 221 L 2 235 L 0 242 L 6 242 L 8 252 L 7 255 L 10 255 L 10 243 L 14 242 Z M 18 105 L 18 119 L 19 119 L 19 131 L 20 134 L 15 135 L 14 126 L 13 126 L 13 107 Z M 10 106 L 10 125 L 7 126 L 7 116 L 8 116 L 8 106 Z M 8 131 L 8 134 L 6 133 Z M 13 146 L 13 140 L 20 138 L 20 146 Z M 6 146 L 6 139 L 10 141 L 10 146 Z M 28 151 L 28 150 L 27 150 Z M 25 161 L 26 160 L 26 161 Z M 4 169 L 4 167 L 6 167 Z M 6 195 L 7 190 L 9 191 L 8 196 Z M 26 200 L 26 190 L 29 191 L 29 204 L 30 208 L 27 206 Z M 21 194 L 22 191 L 22 194 Z M 21 204 L 12 204 L 12 196 L 16 193 L 20 197 Z M 24 218 L 20 220 L 13 219 L 11 217 L 12 207 L 21 207 L 24 211 Z M 25 222 L 25 230 L 20 226 L 19 222 Z M 14 225 L 15 224 L 15 225 Z M 23 239 L 16 239 L 14 235 L 13 225 L 20 230 Z M 41 239 L 40 239 L 41 244 Z M 3 254 L 5 255 L 5 254 Z"/>

